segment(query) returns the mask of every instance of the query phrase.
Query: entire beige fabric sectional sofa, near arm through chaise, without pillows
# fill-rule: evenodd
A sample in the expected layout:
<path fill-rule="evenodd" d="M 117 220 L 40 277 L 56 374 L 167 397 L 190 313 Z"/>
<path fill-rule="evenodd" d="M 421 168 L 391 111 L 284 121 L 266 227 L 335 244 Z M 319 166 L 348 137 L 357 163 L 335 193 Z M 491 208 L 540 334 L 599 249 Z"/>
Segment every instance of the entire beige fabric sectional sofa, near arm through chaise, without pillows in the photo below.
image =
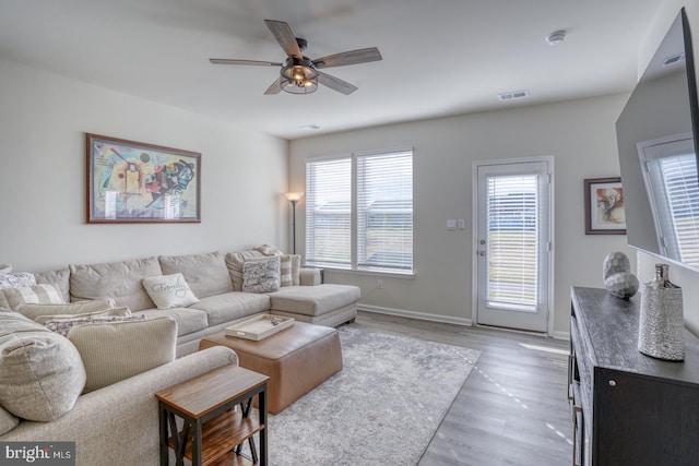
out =
<path fill-rule="evenodd" d="M 294 258 L 279 259 L 280 264 L 283 264 L 282 261 L 285 263 L 280 265 L 281 275 L 285 274 L 285 267 L 291 268 L 291 274 L 280 277 L 280 284 L 287 286 L 260 292 L 244 291 L 248 285 L 246 263 L 250 262 L 248 265 L 251 265 L 252 262 L 262 262 L 275 255 L 279 256 L 256 250 L 226 254 L 209 252 L 70 265 L 58 271 L 34 274 L 36 283 L 52 285 L 51 288 L 57 289 L 66 302 L 97 302 L 107 299 L 112 300 L 109 301 L 111 306 L 128 307 L 133 316 L 143 315 L 143 322 L 157 320 L 167 326 L 167 322 L 176 321 L 176 325 L 169 326 L 175 348 L 166 363 L 90 393 L 79 392 L 72 408 L 64 414 L 60 413 L 55 419 L 26 420 L 22 416 L 12 416 L 0 407 L 0 441 L 75 441 L 78 465 L 157 464 L 158 420 L 157 403 L 153 394 L 216 367 L 237 363 L 236 355 L 228 348 L 197 351 L 202 337 L 262 313 L 288 315 L 299 321 L 324 325 L 337 325 L 356 316 L 359 299 L 357 287 L 320 284 L 318 271 L 298 267 L 297 262 L 294 264 Z M 144 288 L 143 280 L 171 277 L 175 274 L 181 274 L 191 292 L 188 296 L 191 298 L 193 295 L 196 302 L 187 307 L 158 309 Z M 0 309 L 0 315 L 15 304 L 14 301 L 10 302 L 12 299 L 8 296 L 10 294 L 7 290 L 0 292 L 0 308 L 4 308 Z M 22 309 L 19 308 L 12 314 L 21 313 Z M 21 321 L 19 325 L 29 325 L 32 332 L 13 333 L 13 324 L 0 322 L 0 405 L 7 391 L 11 390 L 4 381 L 12 378 L 5 373 L 11 370 L 8 369 L 11 365 L 3 365 L 2 358 L 11 351 L 23 350 L 23 347 L 29 348 L 32 345 L 43 351 L 50 345 L 42 342 L 46 338 L 59 338 L 44 335 L 42 332 L 47 332 L 44 327 L 36 333 L 38 324 L 33 322 L 34 316 L 17 316 Z M 123 323 L 112 323 L 119 324 Z M 73 327 L 69 335 L 71 342 L 75 333 L 79 332 Z M 129 345 L 138 343 L 129 342 Z M 122 355 L 114 355 L 115 358 L 120 356 Z M 83 361 L 85 368 L 88 368 L 84 357 Z M 87 379 L 91 379 L 90 373 Z M 84 381 L 82 383 L 84 385 Z"/>

